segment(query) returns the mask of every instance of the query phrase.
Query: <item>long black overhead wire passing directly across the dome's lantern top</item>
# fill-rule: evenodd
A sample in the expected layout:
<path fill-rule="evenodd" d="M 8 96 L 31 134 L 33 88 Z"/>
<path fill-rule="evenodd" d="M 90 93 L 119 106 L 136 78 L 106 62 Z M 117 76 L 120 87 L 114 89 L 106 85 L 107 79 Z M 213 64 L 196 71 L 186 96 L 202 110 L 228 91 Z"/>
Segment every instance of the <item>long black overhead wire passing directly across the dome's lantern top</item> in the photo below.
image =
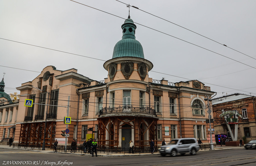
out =
<path fill-rule="evenodd" d="M 69 1 L 72 1 L 72 0 L 69 0 Z M 95 10 L 102 11 L 102 12 L 104 12 L 104 13 L 110 14 L 110 15 L 115 16 L 115 17 L 118 17 L 118 18 L 122 18 L 122 17 L 116 16 L 116 15 L 114 15 L 114 14 L 108 13 L 108 12 L 106 12 L 106 11 L 103 11 L 103 10 L 100 10 L 100 9 L 97 9 L 97 8 L 94 8 L 94 7 L 91 7 L 91 6 L 88 6 L 88 5 L 85 5 L 85 4 L 82 4 L 82 3 L 76 2 L 76 1 L 72 1 L 72 2 L 75 2 L 75 3 L 78 3 L 78 4 L 81 4 L 81 5 L 84 5 L 84 6 L 87 6 L 87 7 L 93 8 L 93 9 L 95 9 Z M 126 20 L 126 18 L 122 18 L 122 19 Z M 242 63 L 242 62 L 240 62 L 240 61 L 238 61 L 238 60 L 235 60 L 235 59 L 229 58 L 229 57 L 227 57 L 227 56 L 225 56 L 225 55 L 222 55 L 222 54 L 216 53 L 216 52 L 214 52 L 214 51 L 212 51 L 212 50 L 209 50 L 209 49 L 207 49 L 207 48 L 201 47 L 201 46 L 196 45 L 196 44 L 194 44 L 194 43 L 190 43 L 190 42 L 185 41 L 185 40 L 183 40 L 183 39 L 179 39 L 178 37 L 175 37 L 175 36 L 172 36 L 172 35 L 170 35 L 170 34 L 164 33 L 164 32 L 162 32 L 162 31 L 158 31 L 158 30 L 156 30 L 156 29 L 154 29 L 154 28 L 147 27 L 146 25 L 142 25 L 142 24 L 137 23 L 137 22 L 134 22 L 134 23 L 136 23 L 136 24 L 138 24 L 138 25 L 141 25 L 141 26 L 143 26 L 143 27 L 146 27 L 146 28 L 152 29 L 152 30 L 154 30 L 154 31 L 157 31 L 157 32 L 163 33 L 163 34 L 165 34 L 165 35 L 168 35 L 168 36 L 174 37 L 174 38 L 176 38 L 176 39 L 178 39 L 178 40 L 184 41 L 184 42 L 186 42 L 186 43 L 189 43 L 189 44 L 192 44 L 192 45 L 194 45 L 194 46 L 200 47 L 200 48 L 202 48 L 202 49 L 208 50 L 208 51 L 210 51 L 210 52 L 212 52 L 212 53 L 215 53 L 215 54 L 218 54 L 218 55 L 220 55 L 220 56 L 226 57 L 226 58 L 228 58 L 228 59 L 234 60 L 234 61 L 236 61 L 236 62 L 238 62 L 238 63 Z M 0 39 L 2 39 L 2 38 L 0 38 Z M 249 67 L 251 67 L 251 68 L 256 69 L 255 67 L 252 67 L 252 66 L 250 66 L 250 65 L 247 65 L 247 64 L 245 64 L 245 63 L 242 63 L 242 64 L 243 64 L 243 65 L 246 65 L 246 66 L 249 66 Z"/>

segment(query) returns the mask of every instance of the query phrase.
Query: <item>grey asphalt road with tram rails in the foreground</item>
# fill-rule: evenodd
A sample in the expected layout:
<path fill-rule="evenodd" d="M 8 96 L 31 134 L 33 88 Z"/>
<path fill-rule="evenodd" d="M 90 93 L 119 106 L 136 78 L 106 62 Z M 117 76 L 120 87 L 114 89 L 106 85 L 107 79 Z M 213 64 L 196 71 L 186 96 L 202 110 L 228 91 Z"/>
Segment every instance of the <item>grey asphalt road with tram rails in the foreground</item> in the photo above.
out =
<path fill-rule="evenodd" d="M 91 157 L 17 149 L 0 149 L 2 165 L 256 165 L 256 150 L 229 149 L 197 152 L 176 157 L 161 155 L 132 157 Z"/>

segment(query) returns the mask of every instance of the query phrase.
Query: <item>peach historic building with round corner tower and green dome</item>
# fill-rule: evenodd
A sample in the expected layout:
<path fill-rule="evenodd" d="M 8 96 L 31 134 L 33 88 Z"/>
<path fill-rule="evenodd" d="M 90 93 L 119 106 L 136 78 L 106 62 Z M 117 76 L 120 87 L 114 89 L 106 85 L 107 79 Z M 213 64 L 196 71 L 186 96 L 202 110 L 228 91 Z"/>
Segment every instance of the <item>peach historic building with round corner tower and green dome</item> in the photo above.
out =
<path fill-rule="evenodd" d="M 136 25 L 129 17 L 121 28 L 122 39 L 103 64 L 108 71 L 103 81 L 91 80 L 76 69 L 47 66 L 34 80 L 17 87 L 21 97 L 15 142 L 42 144 L 47 118 L 46 147 L 54 139 L 64 144 L 65 116 L 71 117 L 68 144 L 72 139 L 82 144 L 90 137 L 106 147 L 128 147 L 130 140 L 135 147 L 144 147 L 151 139 L 161 144 L 163 139 L 180 137 L 210 142 L 204 98 L 214 92 L 198 80 L 172 83 L 150 78 L 153 63 L 144 58 L 142 45 L 135 40 Z M 36 103 L 33 107 L 24 106 L 29 98 Z"/>

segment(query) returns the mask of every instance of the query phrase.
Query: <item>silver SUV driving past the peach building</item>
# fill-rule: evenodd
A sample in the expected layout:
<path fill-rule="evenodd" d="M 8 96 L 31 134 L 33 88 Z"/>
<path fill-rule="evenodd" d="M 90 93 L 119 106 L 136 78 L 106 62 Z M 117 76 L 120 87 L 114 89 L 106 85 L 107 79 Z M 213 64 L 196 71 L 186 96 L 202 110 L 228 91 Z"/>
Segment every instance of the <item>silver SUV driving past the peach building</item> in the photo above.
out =
<path fill-rule="evenodd" d="M 161 146 L 159 152 L 162 156 L 171 155 L 176 156 L 177 154 L 185 155 L 185 153 L 190 153 L 195 155 L 199 150 L 199 145 L 196 138 L 178 138 L 173 139 L 167 145 Z"/>

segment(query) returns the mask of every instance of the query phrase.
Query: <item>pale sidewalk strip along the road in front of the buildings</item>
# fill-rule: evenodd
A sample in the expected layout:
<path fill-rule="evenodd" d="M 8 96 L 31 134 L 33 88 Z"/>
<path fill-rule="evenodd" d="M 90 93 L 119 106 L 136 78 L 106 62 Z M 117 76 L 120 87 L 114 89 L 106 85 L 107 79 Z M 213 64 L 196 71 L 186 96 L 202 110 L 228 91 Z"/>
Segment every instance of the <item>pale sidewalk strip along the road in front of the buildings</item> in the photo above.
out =
<path fill-rule="evenodd" d="M 24 148 L 13 148 L 12 146 L 9 146 L 9 145 L 0 145 L 0 149 L 13 149 L 13 150 L 27 150 L 27 151 L 37 151 L 37 152 L 41 152 L 41 153 L 55 153 L 53 152 L 53 149 L 45 149 L 45 150 L 31 150 L 31 149 L 24 149 Z M 240 146 L 225 146 L 225 145 L 216 145 L 216 147 L 214 147 L 214 150 L 225 150 L 225 149 L 244 149 L 244 147 L 240 147 Z M 200 152 L 204 152 L 204 151 L 209 151 L 209 149 L 206 149 L 206 150 L 201 150 L 199 149 L 199 153 Z M 58 154 L 69 154 L 69 155 L 82 155 L 82 156 L 92 156 L 90 154 L 87 154 L 87 153 L 81 153 L 81 152 L 76 152 L 76 153 L 70 153 L 70 152 L 61 152 L 61 151 L 58 151 L 56 152 Z M 146 156 L 146 155 L 159 155 L 159 152 L 155 152 L 154 154 L 151 154 L 151 153 L 135 153 L 135 154 L 132 154 L 132 153 L 113 153 L 113 154 L 106 154 L 106 153 L 98 153 L 98 156 L 101 156 L 101 157 L 117 157 L 117 156 L 120 156 L 120 157 L 124 157 L 124 156 Z M 94 155 L 95 156 L 95 155 Z"/>

